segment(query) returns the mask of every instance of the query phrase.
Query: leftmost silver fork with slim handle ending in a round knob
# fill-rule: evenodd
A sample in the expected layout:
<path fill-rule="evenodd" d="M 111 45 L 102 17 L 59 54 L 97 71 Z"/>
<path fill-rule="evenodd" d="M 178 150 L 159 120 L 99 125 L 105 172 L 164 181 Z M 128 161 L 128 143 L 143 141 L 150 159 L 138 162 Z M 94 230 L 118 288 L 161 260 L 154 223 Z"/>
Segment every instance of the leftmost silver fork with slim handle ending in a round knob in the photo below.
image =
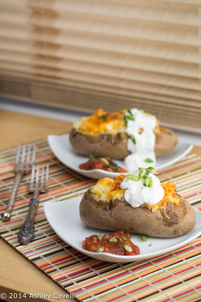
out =
<path fill-rule="evenodd" d="M 26 153 L 27 149 L 27 153 Z M 32 149 L 32 160 L 30 161 L 30 153 L 31 153 L 31 145 L 29 144 L 26 146 L 24 144 L 22 146 L 22 153 L 21 151 L 21 146 L 20 144 L 17 147 L 17 155 L 16 155 L 16 160 L 15 160 L 15 166 L 14 166 L 14 172 L 15 172 L 15 180 L 11 189 L 11 194 L 9 198 L 9 202 L 7 205 L 6 212 L 2 214 L 2 220 L 3 221 L 8 221 L 11 218 L 11 212 L 13 209 L 13 205 L 15 202 L 15 195 L 17 192 L 17 188 L 19 186 L 20 180 L 24 174 L 28 174 L 31 172 L 31 167 L 35 162 L 35 156 L 36 156 L 36 146 L 33 146 Z M 21 155 L 21 157 L 20 157 Z M 25 157 L 27 156 L 26 160 Z"/>

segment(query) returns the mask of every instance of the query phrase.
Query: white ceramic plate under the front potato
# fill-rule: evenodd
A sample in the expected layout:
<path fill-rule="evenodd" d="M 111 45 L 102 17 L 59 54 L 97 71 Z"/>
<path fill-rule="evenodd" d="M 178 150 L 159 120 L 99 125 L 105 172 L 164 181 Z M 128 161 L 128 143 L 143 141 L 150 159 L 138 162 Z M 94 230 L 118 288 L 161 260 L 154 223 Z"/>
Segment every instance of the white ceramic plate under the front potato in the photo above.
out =
<path fill-rule="evenodd" d="M 195 209 L 196 225 L 189 233 L 175 238 L 152 238 L 146 242 L 139 240 L 140 235 L 132 234 L 131 241 L 139 246 L 140 255 L 120 256 L 108 253 L 88 252 L 82 249 L 82 241 L 93 234 L 109 234 L 111 232 L 96 230 L 86 226 L 79 216 L 80 197 L 64 201 L 44 203 L 46 218 L 55 233 L 74 249 L 92 258 L 107 262 L 133 262 L 150 259 L 172 252 L 201 235 L 201 211 Z M 150 246 L 151 245 L 151 246 Z"/>

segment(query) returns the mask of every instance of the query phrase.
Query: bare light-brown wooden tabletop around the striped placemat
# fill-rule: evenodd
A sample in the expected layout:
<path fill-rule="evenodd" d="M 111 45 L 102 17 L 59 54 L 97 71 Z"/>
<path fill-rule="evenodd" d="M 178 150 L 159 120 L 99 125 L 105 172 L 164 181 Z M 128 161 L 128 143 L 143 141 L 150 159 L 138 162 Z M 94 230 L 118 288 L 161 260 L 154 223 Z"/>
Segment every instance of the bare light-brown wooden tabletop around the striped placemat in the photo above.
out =
<path fill-rule="evenodd" d="M 71 129 L 72 123 L 2 110 L 0 126 L 1 149 L 6 149 L 18 143 L 47 137 L 48 134 L 67 132 Z M 201 147 L 193 147 L 192 152 L 201 155 Z M 28 299 L 30 294 L 37 293 L 51 294 L 49 299 L 51 302 L 77 301 L 71 298 L 54 298 L 54 293 L 63 295 L 68 293 L 2 238 L 0 238 L 0 259 L 0 294 L 7 294 L 5 301 L 14 300 L 9 298 L 9 293 L 21 293 L 21 295 L 26 293 L 27 298 L 20 299 L 21 302 L 47 301 L 47 298 Z"/>

